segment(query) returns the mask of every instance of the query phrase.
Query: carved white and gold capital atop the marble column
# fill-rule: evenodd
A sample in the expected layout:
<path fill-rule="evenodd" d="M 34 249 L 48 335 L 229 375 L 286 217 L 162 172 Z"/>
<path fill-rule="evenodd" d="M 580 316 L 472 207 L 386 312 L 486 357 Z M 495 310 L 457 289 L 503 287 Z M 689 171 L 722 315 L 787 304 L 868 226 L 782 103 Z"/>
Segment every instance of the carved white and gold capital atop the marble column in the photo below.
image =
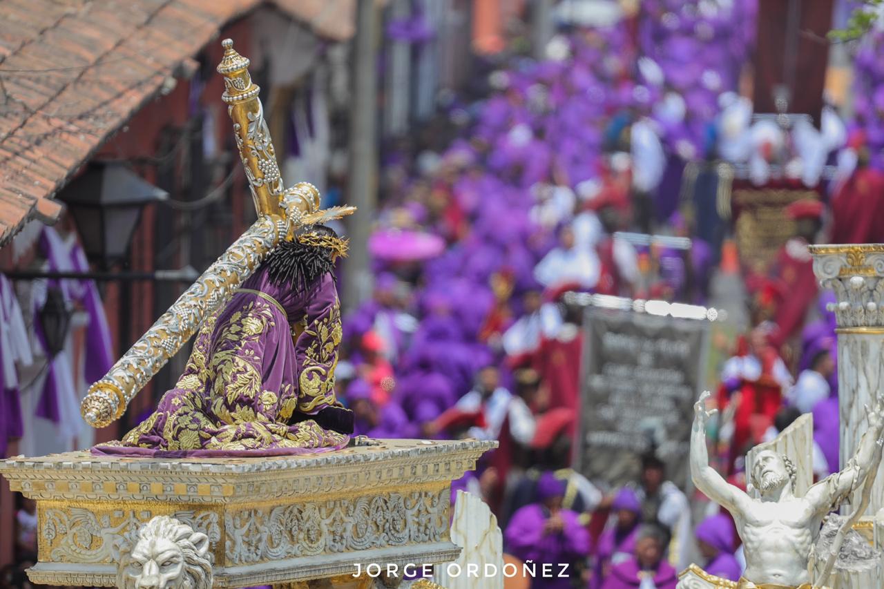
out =
<path fill-rule="evenodd" d="M 834 311 L 842 329 L 884 330 L 884 244 L 811 246 L 813 273 L 834 290 Z"/>

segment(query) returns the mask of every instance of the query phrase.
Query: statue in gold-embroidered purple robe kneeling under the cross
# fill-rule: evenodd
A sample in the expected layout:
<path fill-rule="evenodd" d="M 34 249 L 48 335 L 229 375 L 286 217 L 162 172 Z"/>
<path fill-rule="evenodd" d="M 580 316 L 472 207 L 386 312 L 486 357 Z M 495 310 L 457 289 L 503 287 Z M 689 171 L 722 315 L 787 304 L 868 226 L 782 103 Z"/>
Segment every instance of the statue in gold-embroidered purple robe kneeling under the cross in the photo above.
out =
<path fill-rule="evenodd" d="M 304 226 L 203 321 L 184 373 L 146 420 L 95 454 L 293 455 L 347 446 L 335 397 L 341 341 L 334 263 L 347 241 Z"/>

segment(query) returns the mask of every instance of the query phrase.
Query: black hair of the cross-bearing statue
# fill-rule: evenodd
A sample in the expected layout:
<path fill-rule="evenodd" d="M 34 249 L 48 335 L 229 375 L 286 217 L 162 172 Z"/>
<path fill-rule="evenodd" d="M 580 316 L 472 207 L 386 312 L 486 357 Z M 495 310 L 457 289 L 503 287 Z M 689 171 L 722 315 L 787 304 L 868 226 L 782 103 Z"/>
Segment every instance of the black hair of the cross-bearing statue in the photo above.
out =
<path fill-rule="evenodd" d="M 299 292 L 307 290 L 325 273 L 334 276 L 335 252 L 331 248 L 309 245 L 298 241 L 304 234 L 337 238 L 331 227 L 311 225 L 301 228 L 293 241 L 282 241 L 264 260 L 267 276 L 277 287 L 291 286 Z"/>

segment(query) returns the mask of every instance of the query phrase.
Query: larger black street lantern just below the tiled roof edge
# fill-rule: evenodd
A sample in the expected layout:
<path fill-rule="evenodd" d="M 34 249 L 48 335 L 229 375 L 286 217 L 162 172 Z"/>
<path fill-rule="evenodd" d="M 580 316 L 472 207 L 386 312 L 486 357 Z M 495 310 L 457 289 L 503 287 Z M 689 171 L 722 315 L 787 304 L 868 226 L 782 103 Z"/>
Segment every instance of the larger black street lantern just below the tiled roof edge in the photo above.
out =
<path fill-rule="evenodd" d="M 104 268 L 126 257 L 144 205 L 168 197 L 123 162 L 88 164 L 58 195 L 71 211 L 86 255 Z"/>

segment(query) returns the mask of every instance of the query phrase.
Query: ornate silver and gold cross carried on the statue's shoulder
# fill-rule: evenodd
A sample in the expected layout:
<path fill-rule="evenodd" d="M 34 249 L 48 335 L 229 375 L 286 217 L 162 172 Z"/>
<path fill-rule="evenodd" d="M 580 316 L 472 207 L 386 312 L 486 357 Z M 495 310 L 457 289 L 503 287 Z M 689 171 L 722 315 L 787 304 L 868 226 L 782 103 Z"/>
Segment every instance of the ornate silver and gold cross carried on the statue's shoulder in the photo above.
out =
<path fill-rule="evenodd" d="M 270 129 L 258 97 L 261 88 L 248 73 L 248 58 L 225 39 L 217 72 L 225 78 L 227 112 L 245 168 L 258 220 L 234 241 L 214 264 L 202 272 L 147 333 L 115 363 L 103 379 L 89 387 L 80 413 L 89 425 L 103 427 L 123 415 L 126 406 L 171 356 L 255 272 L 280 241 L 302 225 L 340 217 L 353 207 L 319 210 L 319 192 L 308 182 L 286 189 L 279 173 Z"/>

